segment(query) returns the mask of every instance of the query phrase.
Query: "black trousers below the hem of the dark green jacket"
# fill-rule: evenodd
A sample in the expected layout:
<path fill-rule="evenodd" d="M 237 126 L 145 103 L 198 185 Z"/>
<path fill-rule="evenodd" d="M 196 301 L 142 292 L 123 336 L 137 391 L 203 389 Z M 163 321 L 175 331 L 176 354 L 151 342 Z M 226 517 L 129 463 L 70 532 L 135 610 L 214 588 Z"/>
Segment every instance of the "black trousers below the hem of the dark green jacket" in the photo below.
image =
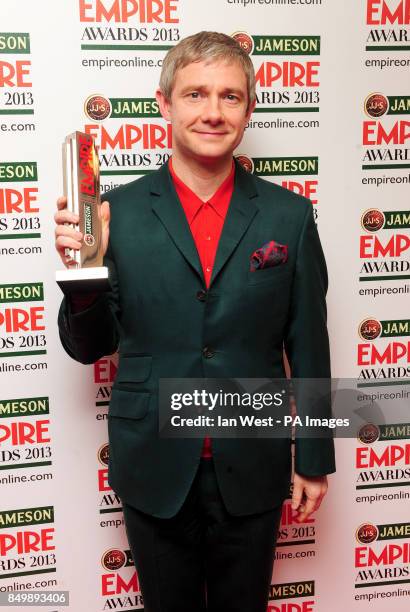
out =
<path fill-rule="evenodd" d="M 282 504 L 230 515 L 213 460 L 201 459 L 174 517 L 123 509 L 145 612 L 266 612 Z"/>

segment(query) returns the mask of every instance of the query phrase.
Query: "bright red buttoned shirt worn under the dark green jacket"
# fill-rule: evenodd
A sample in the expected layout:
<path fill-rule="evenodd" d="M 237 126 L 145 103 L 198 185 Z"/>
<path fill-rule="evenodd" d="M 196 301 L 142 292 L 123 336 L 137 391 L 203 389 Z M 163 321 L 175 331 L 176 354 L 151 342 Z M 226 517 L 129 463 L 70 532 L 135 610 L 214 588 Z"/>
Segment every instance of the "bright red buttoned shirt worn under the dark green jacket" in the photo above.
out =
<path fill-rule="evenodd" d="M 172 159 L 169 160 L 168 167 L 195 241 L 205 277 L 205 284 L 208 288 L 211 281 L 216 249 L 233 193 L 235 164 L 232 161 L 232 169 L 229 176 L 227 176 L 207 202 L 203 202 L 198 198 L 198 196 L 177 177 L 172 167 Z M 209 437 L 204 439 L 202 457 L 212 457 L 211 439 Z"/>

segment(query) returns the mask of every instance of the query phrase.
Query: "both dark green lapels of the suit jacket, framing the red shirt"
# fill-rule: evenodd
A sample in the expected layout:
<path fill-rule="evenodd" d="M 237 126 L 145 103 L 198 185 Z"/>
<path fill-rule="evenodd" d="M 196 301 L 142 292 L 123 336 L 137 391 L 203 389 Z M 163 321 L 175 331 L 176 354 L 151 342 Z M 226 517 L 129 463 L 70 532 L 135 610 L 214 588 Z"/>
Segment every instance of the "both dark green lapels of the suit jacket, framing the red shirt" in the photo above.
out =
<path fill-rule="evenodd" d="M 235 161 L 235 166 L 235 186 L 216 252 L 211 286 L 259 210 L 253 201 L 257 196 L 257 189 L 252 175 L 248 174 L 237 161 Z M 154 213 L 186 261 L 205 284 L 198 251 L 184 210 L 178 200 L 168 164 L 164 164 L 153 175 L 151 197 Z"/>

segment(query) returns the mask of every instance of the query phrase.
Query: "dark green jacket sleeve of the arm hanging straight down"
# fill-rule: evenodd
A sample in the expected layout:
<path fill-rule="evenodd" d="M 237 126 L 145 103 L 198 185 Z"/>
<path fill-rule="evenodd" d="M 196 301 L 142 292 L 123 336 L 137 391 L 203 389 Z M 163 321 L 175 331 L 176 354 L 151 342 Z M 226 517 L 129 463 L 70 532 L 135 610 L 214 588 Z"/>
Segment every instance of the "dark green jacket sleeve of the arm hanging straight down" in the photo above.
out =
<path fill-rule="evenodd" d="M 330 418 L 331 371 L 326 310 L 328 277 L 313 208 L 309 202 L 295 265 L 284 344 L 295 389 L 299 390 L 296 391 L 296 412 L 303 415 L 302 420 L 305 415 Z M 305 379 L 322 379 L 316 385 L 320 389 L 321 400 L 315 402 L 315 407 L 312 402 L 315 383 Z M 306 433 L 298 436 L 296 433 L 295 471 L 304 476 L 323 476 L 336 471 L 330 430 L 324 437 L 317 438 L 306 437 Z"/>

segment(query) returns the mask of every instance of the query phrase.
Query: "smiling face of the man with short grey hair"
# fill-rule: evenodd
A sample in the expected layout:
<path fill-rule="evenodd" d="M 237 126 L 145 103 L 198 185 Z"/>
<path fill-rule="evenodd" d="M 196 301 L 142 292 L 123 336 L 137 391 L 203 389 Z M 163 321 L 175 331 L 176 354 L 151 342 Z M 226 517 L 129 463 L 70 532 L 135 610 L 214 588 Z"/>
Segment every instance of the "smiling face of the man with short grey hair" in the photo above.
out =
<path fill-rule="evenodd" d="M 157 92 L 172 123 L 174 152 L 198 160 L 231 157 L 253 111 L 246 76 L 237 62 L 193 62 L 177 71 L 171 100 Z"/>

